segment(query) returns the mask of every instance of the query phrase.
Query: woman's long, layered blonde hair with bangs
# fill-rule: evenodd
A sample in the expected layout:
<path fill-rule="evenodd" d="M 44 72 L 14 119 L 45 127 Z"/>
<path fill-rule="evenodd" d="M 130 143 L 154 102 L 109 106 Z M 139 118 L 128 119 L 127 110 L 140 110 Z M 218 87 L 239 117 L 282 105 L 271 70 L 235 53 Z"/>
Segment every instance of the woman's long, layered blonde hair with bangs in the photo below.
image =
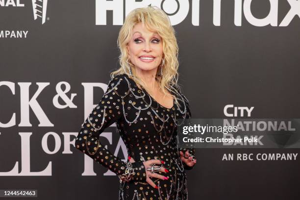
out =
<path fill-rule="evenodd" d="M 158 74 L 160 72 L 160 67 L 157 69 L 156 80 L 159 87 L 161 88 L 164 95 L 169 95 L 167 90 L 170 91 L 171 96 L 175 99 L 176 103 L 178 100 L 175 94 L 181 93 L 178 87 L 178 44 L 175 37 L 175 30 L 171 25 L 168 15 L 156 6 L 141 7 L 132 10 L 125 18 L 125 22 L 120 29 L 117 45 L 120 49 L 119 63 L 120 68 L 113 71 L 110 76 L 114 78 L 119 74 L 126 74 L 132 78 L 136 83 L 145 87 L 144 81 L 135 76 L 134 67 L 132 67 L 133 75 L 130 75 L 129 69 L 131 63 L 128 63 L 128 52 L 126 50 L 126 45 L 130 41 L 132 36 L 132 29 L 134 25 L 142 23 L 149 30 L 155 30 L 162 38 L 163 42 L 163 57 L 165 59 L 164 66 L 162 68 L 163 75 Z"/>

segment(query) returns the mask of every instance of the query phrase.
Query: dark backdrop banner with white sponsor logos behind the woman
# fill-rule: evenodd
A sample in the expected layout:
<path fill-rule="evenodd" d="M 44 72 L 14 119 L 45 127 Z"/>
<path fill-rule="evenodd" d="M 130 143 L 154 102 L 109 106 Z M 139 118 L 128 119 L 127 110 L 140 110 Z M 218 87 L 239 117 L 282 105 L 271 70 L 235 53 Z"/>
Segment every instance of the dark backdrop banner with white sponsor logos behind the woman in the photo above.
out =
<path fill-rule="evenodd" d="M 243 119 L 246 130 L 300 118 L 300 0 L 0 0 L 0 190 L 118 199 L 119 177 L 76 150 L 75 137 L 119 68 L 125 16 L 147 5 L 175 28 L 193 118 Z M 299 120 L 280 122 L 277 146 L 254 133 L 226 148 L 198 145 L 189 199 L 299 199 Z M 115 124 L 100 137 L 126 161 Z"/>

